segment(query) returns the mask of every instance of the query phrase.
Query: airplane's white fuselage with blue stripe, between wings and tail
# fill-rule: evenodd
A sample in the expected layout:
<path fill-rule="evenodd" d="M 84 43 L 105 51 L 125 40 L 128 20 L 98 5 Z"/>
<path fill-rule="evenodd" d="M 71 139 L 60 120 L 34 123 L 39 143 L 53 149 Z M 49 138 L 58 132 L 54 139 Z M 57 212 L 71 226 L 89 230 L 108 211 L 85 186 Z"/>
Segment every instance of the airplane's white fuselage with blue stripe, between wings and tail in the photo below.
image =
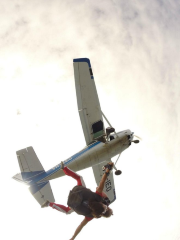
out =
<path fill-rule="evenodd" d="M 64 165 L 77 172 L 106 160 L 110 161 L 112 157 L 128 148 L 133 139 L 133 134 L 130 130 L 119 132 L 117 135 L 118 137 L 114 135 L 115 139 L 108 143 L 97 142 L 87 146 L 74 156 L 65 160 Z M 130 136 L 130 139 L 128 136 Z M 52 180 L 65 175 L 60 163 L 46 173 L 46 177 L 40 179 L 38 182 Z"/>

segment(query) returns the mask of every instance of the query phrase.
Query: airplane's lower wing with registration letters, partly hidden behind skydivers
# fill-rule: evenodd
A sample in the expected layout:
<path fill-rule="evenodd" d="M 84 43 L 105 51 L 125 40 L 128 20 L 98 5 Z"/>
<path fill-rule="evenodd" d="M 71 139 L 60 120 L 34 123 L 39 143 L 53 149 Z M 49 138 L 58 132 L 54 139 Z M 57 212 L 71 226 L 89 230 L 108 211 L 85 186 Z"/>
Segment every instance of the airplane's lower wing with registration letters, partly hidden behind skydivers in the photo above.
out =
<path fill-rule="evenodd" d="M 110 161 L 104 161 L 102 163 L 99 163 L 97 165 L 92 166 L 97 186 L 99 186 L 101 178 L 104 174 L 104 171 L 102 170 L 102 167 L 104 165 L 106 165 L 108 162 L 110 162 Z M 113 177 L 113 172 L 112 171 L 106 179 L 106 182 L 104 184 L 103 192 L 106 193 L 106 195 L 108 196 L 111 203 L 113 203 L 116 200 L 114 177 Z"/>

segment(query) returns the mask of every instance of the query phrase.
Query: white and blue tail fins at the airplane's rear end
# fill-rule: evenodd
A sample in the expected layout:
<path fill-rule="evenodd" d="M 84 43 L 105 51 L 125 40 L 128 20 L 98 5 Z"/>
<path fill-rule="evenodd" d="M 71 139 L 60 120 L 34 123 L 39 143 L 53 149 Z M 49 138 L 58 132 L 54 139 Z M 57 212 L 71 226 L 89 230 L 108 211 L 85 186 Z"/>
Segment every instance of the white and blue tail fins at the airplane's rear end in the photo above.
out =
<path fill-rule="evenodd" d="M 30 184 L 35 177 L 45 172 L 34 149 L 32 147 L 24 148 L 17 151 L 16 154 L 21 173 L 13 176 L 13 179 L 30 185 L 29 190 L 40 205 L 46 200 L 55 202 L 49 181 L 34 183 L 33 185 Z"/>

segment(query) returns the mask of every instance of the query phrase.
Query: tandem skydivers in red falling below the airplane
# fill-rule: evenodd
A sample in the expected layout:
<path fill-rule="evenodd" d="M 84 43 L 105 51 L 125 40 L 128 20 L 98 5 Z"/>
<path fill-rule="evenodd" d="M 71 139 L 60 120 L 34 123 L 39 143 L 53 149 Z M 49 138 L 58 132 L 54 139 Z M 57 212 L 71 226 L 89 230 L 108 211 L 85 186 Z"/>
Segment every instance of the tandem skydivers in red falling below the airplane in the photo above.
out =
<path fill-rule="evenodd" d="M 109 162 L 110 169 L 113 167 L 113 163 Z M 109 175 L 110 169 L 106 168 L 103 174 L 99 186 L 96 188 L 96 192 L 92 192 L 86 188 L 83 178 L 77 173 L 70 170 L 68 167 L 64 167 L 61 162 L 64 173 L 77 180 L 77 186 L 70 191 L 68 196 L 68 207 L 53 202 L 46 201 L 41 207 L 52 207 L 60 212 L 70 214 L 76 212 L 79 215 L 84 215 L 84 220 L 77 227 L 73 237 L 70 240 L 74 240 L 82 228 L 93 218 L 110 217 L 113 215 L 113 211 L 108 207 L 110 201 L 107 195 L 103 192 L 104 183 Z"/>

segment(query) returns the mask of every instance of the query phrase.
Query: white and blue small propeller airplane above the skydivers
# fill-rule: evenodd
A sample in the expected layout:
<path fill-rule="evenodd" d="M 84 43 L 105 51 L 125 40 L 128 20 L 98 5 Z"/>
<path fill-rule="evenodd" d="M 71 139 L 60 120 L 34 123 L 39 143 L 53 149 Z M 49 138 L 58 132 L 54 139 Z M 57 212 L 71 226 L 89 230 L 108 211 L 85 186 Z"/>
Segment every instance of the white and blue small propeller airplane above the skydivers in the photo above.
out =
<path fill-rule="evenodd" d="M 74 59 L 73 66 L 78 111 L 87 146 L 63 163 L 75 172 L 92 167 L 98 186 L 104 166 L 111 158 L 119 154 L 118 161 L 120 154 L 132 142 L 138 143 L 139 140 L 133 140 L 135 135 L 130 130 L 116 132 L 102 112 L 90 60 Z M 103 118 L 109 124 L 106 129 Z M 61 163 L 45 171 L 32 147 L 19 150 L 16 154 L 21 173 L 16 174 L 13 179 L 29 185 L 31 194 L 41 206 L 46 200 L 55 202 L 49 181 L 65 175 Z M 121 171 L 116 169 L 116 163 L 113 166 L 115 174 L 120 175 Z M 103 191 L 111 203 L 116 200 L 113 172 L 108 176 Z"/>

